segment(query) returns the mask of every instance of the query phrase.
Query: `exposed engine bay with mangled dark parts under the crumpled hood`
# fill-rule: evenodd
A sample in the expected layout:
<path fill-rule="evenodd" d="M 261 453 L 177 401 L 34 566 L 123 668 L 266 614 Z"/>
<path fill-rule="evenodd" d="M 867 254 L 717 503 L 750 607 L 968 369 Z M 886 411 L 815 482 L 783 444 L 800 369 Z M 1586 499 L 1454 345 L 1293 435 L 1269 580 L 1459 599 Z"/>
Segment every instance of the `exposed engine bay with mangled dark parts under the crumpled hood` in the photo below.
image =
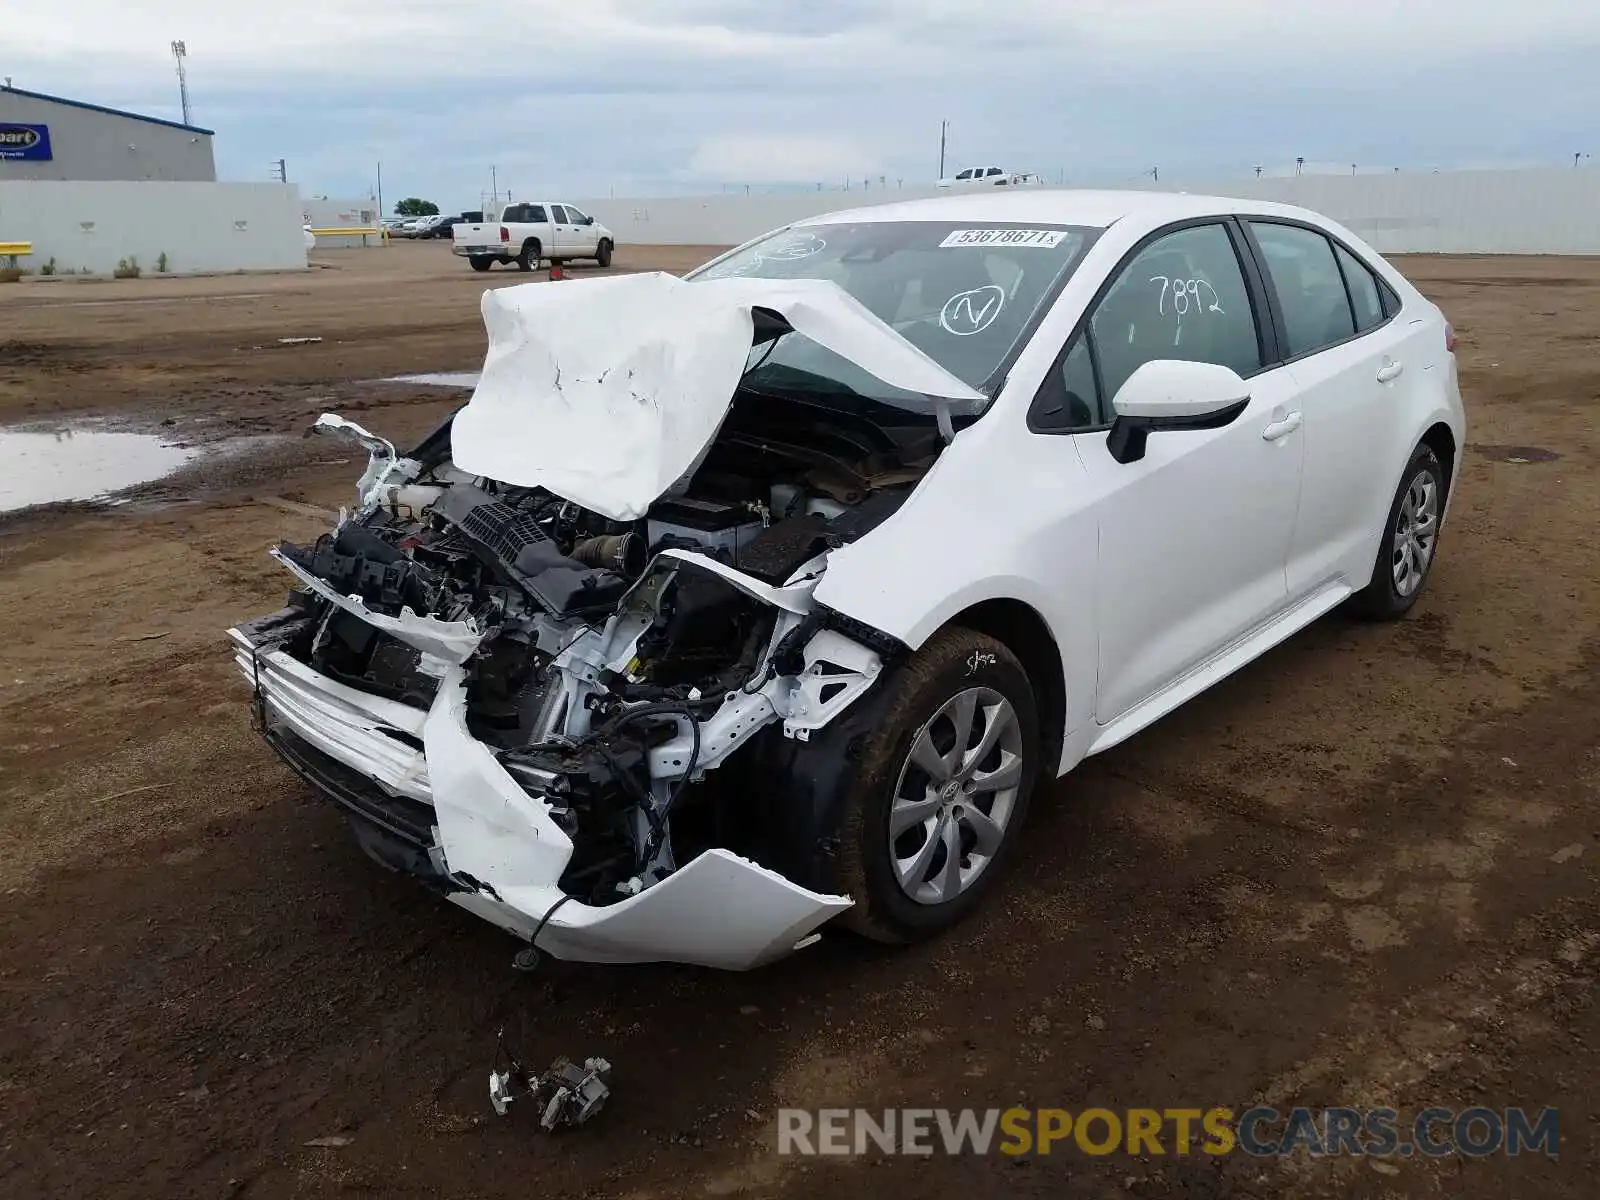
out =
<path fill-rule="evenodd" d="M 758 856 L 758 794 L 709 776 L 757 736 L 810 738 L 872 686 L 894 646 L 811 590 L 942 445 L 926 421 L 741 394 L 693 472 L 618 522 L 466 475 L 448 422 L 406 458 L 341 418 L 315 429 L 373 461 L 333 531 L 274 550 L 302 587 L 267 645 L 416 710 L 459 670 L 470 736 L 547 805 L 571 840 L 560 891 L 589 906 L 710 846 Z"/>

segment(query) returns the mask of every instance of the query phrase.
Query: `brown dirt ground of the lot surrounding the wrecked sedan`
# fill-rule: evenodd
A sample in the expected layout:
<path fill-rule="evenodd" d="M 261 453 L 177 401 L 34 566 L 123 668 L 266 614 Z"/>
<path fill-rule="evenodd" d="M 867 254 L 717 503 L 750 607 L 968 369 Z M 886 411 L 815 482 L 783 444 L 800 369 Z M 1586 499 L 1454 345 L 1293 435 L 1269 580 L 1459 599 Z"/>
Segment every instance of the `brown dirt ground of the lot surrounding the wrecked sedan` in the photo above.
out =
<path fill-rule="evenodd" d="M 366 381 L 475 368 L 478 294 L 525 280 L 315 258 L 0 286 L 0 422 L 208 442 L 336 408 L 411 438 L 458 397 Z M 222 638 L 282 603 L 266 547 L 352 498 L 341 446 L 0 520 L 0 1195 L 1594 1195 L 1600 261 L 1402 267 L 1454 320 L 1470 421 L 1419 608 L 1331 616 L 1085 763 L 992 902 L 909 950 L 520 976 L 366 861 L 251 733 Z M 531 1064 L 606 1054 L 611 1107 L 494 1118 L 501 1026 Z M 782 1106 L 1253 1102 L 1558 1106 L 1562 1154 L 774 1152 Z"/>

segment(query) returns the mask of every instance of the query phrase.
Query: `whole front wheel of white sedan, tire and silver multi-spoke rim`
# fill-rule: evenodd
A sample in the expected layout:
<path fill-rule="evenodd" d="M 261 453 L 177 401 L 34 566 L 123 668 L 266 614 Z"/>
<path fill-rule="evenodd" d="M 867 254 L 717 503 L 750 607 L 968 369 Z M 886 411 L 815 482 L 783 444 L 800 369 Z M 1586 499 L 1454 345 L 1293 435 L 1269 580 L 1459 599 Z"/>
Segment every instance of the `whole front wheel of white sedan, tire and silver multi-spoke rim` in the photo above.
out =
<path fill-rule="evenodd" d="M 1038 779 L 1038 710 L 1006 646 L 946 629 L 885 682 L 840 822 L 845 923 L 888 942 L 970 914 L 1010 854 Z"/>

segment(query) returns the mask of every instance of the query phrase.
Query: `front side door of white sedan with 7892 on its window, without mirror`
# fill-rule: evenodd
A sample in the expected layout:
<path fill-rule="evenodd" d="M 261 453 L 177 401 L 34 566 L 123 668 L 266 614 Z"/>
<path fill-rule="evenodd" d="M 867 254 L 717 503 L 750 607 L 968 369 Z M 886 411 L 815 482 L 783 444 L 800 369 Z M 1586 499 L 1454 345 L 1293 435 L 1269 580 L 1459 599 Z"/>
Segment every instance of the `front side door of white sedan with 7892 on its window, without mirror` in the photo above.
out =
<path fill-rule="evenodd" d="M 1285 562 L 1304 437 L 1294 381 L 1274 365 L 1259 277 L 1229 219 L 1155 234 L 1118 267 L 1035 398 L 1072 432 L 1099 528 L 1096 720 L 1114 722 L 1286 602 Z M 1221 429 L 1152 434 L 1144 458 L 1107 448 L 1117 389 L 1146 362 L 1238 371 L 1245 410 Z"/>

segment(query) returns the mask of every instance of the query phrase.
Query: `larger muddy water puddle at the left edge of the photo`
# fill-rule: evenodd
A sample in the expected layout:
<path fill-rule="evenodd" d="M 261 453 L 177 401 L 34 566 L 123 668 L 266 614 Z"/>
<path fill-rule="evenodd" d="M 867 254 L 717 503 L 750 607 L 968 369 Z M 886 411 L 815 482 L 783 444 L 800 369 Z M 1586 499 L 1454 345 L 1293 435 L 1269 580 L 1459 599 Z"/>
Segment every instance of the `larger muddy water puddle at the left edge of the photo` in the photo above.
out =
<path fill-rule="evenodd" d="M 101 499 L 170 475 L 197 453 L 152 434 L 0 429 L 0 512 Z"/>

